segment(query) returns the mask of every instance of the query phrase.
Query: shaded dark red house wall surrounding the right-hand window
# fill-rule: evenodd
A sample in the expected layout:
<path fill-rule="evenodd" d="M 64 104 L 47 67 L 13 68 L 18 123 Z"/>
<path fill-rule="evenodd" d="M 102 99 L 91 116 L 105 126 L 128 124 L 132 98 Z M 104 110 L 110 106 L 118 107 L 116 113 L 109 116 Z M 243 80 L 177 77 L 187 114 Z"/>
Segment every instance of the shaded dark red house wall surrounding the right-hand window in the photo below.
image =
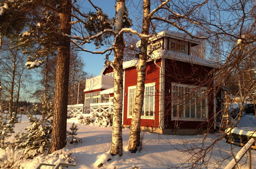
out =
<path fill-rule="evenodd" d="M 165 59 L 165 128 L 167 129 L 206 129 L 213 123 L 213 68 L 187 62 Z M 209 80 L 211 79 L 211 80 Z M 208 121 L 171 120 L 171 82 L 199 86 L 203 82 L 208 92 Z M 211 126 L 213 128 L 213 125 Z"/>

